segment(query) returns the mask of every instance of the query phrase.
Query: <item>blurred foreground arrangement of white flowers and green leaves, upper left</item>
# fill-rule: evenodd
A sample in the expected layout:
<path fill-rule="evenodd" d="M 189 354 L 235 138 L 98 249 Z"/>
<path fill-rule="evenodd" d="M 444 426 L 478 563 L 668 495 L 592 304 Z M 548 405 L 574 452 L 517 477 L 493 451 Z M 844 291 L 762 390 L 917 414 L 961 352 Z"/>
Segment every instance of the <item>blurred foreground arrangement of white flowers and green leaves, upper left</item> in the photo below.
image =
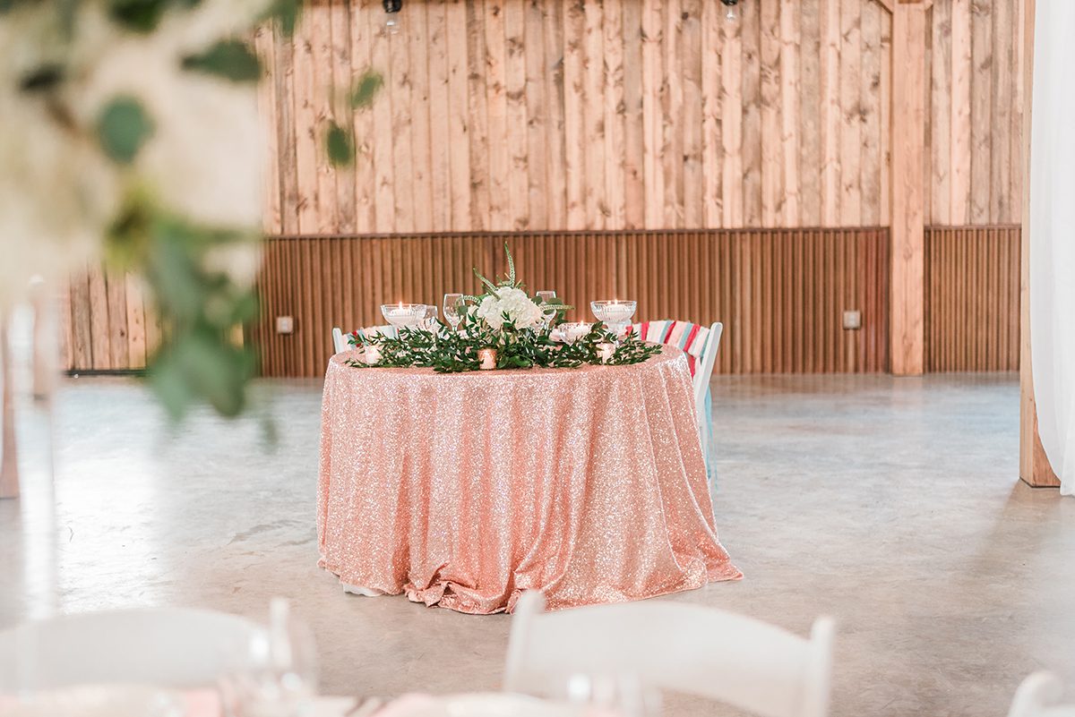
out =
<path fill-rule="evenodd" d="M 166 326 L 150 378 L 176 418 L 241 412 L 256 314 L 263 123 L 259 23 L 300 0 L 0 0 L 0 321 L 31 277 L 108 259 L 144 279 Z M 381 78 L 350 94 L 369 104 Z M 345 125 L 346 126 L 346 125 Z M 333 163 L 354 138 L 331 125 Z"/>

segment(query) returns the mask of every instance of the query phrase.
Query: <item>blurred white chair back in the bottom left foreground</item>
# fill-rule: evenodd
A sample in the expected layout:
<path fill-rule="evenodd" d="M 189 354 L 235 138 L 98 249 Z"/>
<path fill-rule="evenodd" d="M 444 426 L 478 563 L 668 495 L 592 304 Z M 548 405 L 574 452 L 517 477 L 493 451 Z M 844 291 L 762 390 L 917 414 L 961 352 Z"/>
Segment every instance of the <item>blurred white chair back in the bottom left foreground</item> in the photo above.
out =
<path fill-rule="evenodd" d="M 206 610 L 66 615 L 0 632 L 0 693 L 90 684 L 210 687 L 257 626 Z"/>

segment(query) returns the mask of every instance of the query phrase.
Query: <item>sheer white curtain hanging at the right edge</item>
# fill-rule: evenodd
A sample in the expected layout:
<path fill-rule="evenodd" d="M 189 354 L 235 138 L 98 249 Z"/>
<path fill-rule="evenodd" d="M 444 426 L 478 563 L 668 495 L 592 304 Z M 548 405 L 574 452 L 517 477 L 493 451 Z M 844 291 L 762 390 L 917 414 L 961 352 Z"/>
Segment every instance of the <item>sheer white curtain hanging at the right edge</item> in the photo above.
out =
<path fill-rule="evenodd" d="M 1075 2 L 1037 0 L 1030 135 L 1030 337 L 1045 453 L 1075 494 Z"/>

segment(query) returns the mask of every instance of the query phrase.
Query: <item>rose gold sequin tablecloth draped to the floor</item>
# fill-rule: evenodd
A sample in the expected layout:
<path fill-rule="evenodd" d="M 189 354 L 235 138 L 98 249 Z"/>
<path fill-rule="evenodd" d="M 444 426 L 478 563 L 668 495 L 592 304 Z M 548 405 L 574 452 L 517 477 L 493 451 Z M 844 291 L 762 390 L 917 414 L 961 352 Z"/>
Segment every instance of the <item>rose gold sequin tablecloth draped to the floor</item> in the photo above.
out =
<path fill-rule="evenodd" d="M 687 360 L 325 377 L 324 568 L 464 613 L 650 598 L 735 580 L 717 540 Z"/>

